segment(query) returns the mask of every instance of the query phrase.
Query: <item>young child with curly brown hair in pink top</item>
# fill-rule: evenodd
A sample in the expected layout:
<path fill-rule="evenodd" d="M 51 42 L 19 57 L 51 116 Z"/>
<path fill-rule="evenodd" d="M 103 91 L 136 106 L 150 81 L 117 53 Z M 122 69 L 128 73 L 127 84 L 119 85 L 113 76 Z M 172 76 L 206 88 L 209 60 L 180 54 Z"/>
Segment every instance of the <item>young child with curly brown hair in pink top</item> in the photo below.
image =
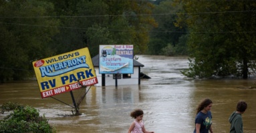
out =
<path fill-rule="evenodd" d="M 135 120 L 130 125 L 128 133 L 154 133 L 146 131 L 144 124 L 142 122 L 143 114 L 143 111 L 140 109 L 136 109 L 130 113 L 130 116 Z"/>

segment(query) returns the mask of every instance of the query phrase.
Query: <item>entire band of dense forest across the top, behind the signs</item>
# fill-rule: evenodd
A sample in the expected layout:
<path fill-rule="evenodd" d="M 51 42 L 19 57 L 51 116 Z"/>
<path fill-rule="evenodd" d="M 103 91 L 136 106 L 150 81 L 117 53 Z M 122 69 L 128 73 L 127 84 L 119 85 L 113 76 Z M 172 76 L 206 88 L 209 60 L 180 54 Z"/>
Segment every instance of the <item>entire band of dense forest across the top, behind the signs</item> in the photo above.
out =
<path fill-rule="evenodd" d="M 255 71 L 256 1 L 0 0 L 0 81 L 33 75 L 32 61 L 99 45 L 135 55 L 186 55 L 193 78 Z"/>

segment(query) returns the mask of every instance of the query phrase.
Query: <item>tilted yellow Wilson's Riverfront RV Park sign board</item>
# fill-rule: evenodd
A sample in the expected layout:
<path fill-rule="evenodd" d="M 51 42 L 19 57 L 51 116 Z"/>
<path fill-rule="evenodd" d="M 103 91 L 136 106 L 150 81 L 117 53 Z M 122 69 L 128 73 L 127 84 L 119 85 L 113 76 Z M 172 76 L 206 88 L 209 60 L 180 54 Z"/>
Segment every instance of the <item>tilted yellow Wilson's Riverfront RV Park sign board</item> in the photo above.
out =
<path fill-rule="evenodd" d="M 88 48 L 34 61 L 33 68 L 42 98 L 98 83 Z"/>

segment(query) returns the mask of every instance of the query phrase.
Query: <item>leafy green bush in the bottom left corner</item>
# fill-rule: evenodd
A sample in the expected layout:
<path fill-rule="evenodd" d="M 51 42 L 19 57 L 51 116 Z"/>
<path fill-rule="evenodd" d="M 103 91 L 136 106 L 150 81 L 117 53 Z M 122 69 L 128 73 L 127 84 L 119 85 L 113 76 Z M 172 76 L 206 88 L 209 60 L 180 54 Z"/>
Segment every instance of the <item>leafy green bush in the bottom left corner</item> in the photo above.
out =
<path fill-rule="evenodd" d="M 20 106 L 17 103 L 7 102 L 1 106 L 1 112 L 11 112 L 0 120 L 0 132 L 55 132 L 55 129 L 48 124 L 45 116 L 39 116 L 37 109 L 31 106 Z"/>

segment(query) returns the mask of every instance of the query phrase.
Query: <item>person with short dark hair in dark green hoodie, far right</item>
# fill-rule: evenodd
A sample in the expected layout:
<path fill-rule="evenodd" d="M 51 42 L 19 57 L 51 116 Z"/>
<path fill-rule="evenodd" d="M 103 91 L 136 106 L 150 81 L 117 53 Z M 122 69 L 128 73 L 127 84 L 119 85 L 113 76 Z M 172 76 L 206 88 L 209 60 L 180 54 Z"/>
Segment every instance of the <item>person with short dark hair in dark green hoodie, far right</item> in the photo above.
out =
<path fill-rule="evenodd" d="M 233 112 L 229 117 L 229 122 L 231 123 L 230 132 L 231 133 L 243 133 L 243 119 L 242 114 L 247 109 L 247 103 L 244 101 L 239 101 L 237 103 L 237 111 Z"/>

